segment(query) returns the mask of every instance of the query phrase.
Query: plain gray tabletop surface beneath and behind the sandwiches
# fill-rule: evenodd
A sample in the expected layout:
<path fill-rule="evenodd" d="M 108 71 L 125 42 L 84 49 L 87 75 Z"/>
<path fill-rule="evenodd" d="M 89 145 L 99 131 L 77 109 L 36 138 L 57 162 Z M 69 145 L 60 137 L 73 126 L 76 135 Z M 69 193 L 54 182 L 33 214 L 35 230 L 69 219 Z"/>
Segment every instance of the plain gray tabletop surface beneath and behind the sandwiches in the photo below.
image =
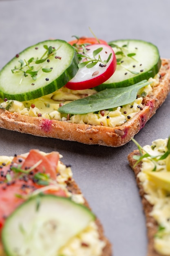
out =
<path fill-rule="evenodd" d="M 106 41 L 135 38 L 150 41 L 161 57 L 170 58 L 169 0 L 0 0 L 0 68 L 22 49 L 48 38 L 71 40 L 72 35 Z M 141 144 L 170 135 L 170 96 L 135 136 Z M 147 238 L 135 177 L 127 155 L 135 145 L 121 148 L 88 146 L 33 137 L 0 129 L 0 155 L 39 148 L 58 150 L 71 164 L 93 211 L 113 243 L 115 256 L 145 256 Z"/>

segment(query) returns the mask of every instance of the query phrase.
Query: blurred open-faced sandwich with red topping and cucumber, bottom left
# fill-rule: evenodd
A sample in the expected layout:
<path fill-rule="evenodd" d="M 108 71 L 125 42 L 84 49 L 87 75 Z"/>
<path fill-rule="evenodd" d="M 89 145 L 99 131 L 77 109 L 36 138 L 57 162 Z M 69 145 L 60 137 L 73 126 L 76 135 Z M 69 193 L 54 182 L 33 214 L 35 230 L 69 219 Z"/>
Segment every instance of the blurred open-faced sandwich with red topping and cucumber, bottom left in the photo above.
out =
<path fill-rule="evenodd" d="M 0 256 L 111 256 L 58 152 L 0 157 Z"/>

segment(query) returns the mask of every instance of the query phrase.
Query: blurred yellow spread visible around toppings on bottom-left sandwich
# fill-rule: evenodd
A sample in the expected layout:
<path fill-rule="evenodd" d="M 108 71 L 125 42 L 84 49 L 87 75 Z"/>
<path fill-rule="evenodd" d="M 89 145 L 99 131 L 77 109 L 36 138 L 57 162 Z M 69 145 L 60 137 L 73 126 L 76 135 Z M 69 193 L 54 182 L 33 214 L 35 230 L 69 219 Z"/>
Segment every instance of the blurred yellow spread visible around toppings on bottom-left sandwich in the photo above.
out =
<path fill-rule="evenodd" d="M 44 152 L 41 152 L 45 154 Z M 60 158 L 62 155 L 60 155 Z M 0 156 L 0 165 L 10 164 L 13 157 Z M 62 188 L 67 194 L 68 197 L 79 204 L 84 203 L 84 197 L 82 194 L 72 194 L 67 189 L 66 181 L 73 176 L 71 167 L 65 166 L 60 160 L 57 165 L 57 184 L 49 185 L 50 189 L 58 189 L 58 186 Z M 46 189 L 49 189 L 49 186 L 44 186 L 41 191 L 43 192 Z M 35 190 L 33 193 L 40 193 L 40 189 Z M 60 251 L 57 252 L 56 256 L 100 256 L 102 250 L 105 247 L 105 242 L 99 239 L 98 227 L 94 221 L 91 221 L 88 226 L 77 236 L 71 238 Z M 0 256 L 6 256 L 2 250 L 0 243 Z"/>

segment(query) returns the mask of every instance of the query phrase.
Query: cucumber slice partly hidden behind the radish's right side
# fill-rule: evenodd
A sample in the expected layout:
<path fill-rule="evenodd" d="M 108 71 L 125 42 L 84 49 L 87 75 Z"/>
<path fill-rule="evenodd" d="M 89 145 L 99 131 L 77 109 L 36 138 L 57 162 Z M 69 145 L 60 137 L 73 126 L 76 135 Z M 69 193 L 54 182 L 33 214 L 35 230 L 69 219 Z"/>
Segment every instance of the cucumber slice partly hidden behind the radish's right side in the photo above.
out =
<path fill-rule="evenodd" d="M 101 91 L 106 88 L 127 87 L 142 80 L 154 77 L 161 67 L 158 48 L 143 40 L 116 40 L 108 43 L 115 52 L 117 68 L 104 83 L 95 87 Z"/>

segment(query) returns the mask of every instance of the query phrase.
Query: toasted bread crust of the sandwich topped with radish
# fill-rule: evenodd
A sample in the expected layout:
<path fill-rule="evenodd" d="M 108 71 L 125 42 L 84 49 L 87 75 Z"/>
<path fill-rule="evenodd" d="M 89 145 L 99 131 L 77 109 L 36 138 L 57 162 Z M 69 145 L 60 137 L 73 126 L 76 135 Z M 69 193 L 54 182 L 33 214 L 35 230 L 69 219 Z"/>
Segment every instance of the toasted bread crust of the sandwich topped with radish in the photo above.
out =
<path fill-rule="evenodd" d="M 0 128 L 40 137 L 78 141 L 84 144 L 122 146 L 145 126 L 170 92 L 170 60 L 162 59 L 162 64 L 159 71 L 160 83 L 153 89 L 152 95 L 144 98 L 143 110 L 121 126 L 111 128 L 88 124 L 71 124 L 65 121 L 20 115 L 16 112 L 12 113 L 0 109 Z"/>

